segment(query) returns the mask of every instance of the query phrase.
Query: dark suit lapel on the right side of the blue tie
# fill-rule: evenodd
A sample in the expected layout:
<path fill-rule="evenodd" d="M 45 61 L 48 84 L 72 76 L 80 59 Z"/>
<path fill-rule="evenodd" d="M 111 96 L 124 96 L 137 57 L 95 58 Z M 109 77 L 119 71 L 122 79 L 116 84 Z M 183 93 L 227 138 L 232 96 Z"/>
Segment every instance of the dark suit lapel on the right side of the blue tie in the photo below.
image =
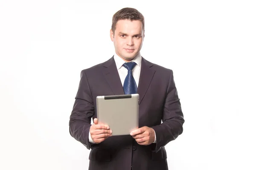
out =
<path fill-rule="evenodd" d="M 153 64 L 151 62 L 148 62 L 142 57 L 141 69 L 140 69 L 140 80 L 139 80 L 139 86 L 137 89 L 137 93 L 140 95 L 140 102 L 145 96 L 148 90 L 148 87 L 151 83 L 151 80 L 154 76 L 155 70 L 151 68 L 152 66 Z"/>

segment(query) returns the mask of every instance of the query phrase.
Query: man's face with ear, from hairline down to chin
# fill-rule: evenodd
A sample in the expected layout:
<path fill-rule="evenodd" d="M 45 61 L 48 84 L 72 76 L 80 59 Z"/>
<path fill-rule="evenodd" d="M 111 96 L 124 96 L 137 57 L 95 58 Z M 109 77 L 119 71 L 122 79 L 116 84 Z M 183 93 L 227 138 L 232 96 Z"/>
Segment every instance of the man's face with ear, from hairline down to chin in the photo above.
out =
<path fill-rule="evenodd" d="M 111 40 L 114 42 L 116 54 L 125 62 L 131 61 L 142 48 L 144 31 L 139 20 L 119 20 L 116 30 L 110 31 Z"/>

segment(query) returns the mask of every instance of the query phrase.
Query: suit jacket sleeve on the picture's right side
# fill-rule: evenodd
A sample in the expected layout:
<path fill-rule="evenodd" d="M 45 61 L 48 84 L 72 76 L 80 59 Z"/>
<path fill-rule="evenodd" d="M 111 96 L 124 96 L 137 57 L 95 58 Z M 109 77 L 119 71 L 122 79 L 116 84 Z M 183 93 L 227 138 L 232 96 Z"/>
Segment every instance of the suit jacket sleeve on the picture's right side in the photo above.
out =
<path fill-rule="evenodd" d="M 152 127 L 157 137 L 155 152 L 158 152 L 170 141 L 175 140 L 183 132 L 184 118 L 172 70 L 166 91 L 162 121 L 162 124 Z"/>

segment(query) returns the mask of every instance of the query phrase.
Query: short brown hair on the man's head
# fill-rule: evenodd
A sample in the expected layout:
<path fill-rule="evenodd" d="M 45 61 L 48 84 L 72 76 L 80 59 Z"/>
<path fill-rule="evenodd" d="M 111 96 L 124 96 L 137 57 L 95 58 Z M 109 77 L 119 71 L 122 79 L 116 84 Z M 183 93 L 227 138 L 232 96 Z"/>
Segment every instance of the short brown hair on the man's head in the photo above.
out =
<path fill-rule="evenodd" d="M 113 34 L 116 30 L 116 23 L 119 20 L 140 20 L 142 23 L 142 29 L 145 31 L 144 16 L 135 8 L 122 8 L 113 15 L 111 26 Z"/>

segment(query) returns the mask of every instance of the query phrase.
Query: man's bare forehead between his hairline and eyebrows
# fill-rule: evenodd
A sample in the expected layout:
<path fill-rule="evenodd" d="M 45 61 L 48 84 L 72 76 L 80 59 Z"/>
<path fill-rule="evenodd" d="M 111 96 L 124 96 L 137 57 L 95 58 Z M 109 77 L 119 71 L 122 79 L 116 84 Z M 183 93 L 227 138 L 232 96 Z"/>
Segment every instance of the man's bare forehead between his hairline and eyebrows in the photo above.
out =
<path fill-rule="evenodd" d="M 142 22 L 140 20 L 119 20 L 116 23 L 115 32 L 125 32 L 130 34 L 139 34 L 143 32 Z"/>

